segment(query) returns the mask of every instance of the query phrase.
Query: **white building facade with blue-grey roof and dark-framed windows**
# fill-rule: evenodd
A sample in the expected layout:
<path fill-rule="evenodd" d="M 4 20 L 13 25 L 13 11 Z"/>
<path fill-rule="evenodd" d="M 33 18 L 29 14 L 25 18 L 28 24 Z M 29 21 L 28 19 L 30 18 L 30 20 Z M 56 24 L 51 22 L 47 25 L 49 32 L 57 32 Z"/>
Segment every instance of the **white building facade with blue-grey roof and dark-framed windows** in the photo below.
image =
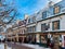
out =
<path fill-rule="evenodd" d="M 65 0 L 53 5 L 50 3 L 50 5 L 43 10 L 40 10 L 38 13 L 28 17 L 26 25 L 27 33 L 36 38 L 37 44 L 44 44 L 48 41 L 48 38 L 50 38 L 51 41 L 55 41 L 55 47 L 60 41 L 63 42 L 62 47 L 65 47 L 64 4 Z"/>

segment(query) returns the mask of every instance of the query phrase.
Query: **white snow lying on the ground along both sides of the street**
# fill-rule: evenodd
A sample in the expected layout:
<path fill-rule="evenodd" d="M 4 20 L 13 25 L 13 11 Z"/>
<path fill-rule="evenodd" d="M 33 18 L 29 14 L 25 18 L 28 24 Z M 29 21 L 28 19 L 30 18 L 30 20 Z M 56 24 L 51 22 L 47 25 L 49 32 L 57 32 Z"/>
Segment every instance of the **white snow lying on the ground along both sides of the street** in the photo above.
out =
<path fill-rule="evenodd" d="M 30 47 L 34 49 L 50 49 L 50 48 L 44 48 L 44 47 L 40 47 L 38 45 L 30 45 L 30 44 L 17 44 L 17 45 L 23 45 L 23 46 Z M 11 49 L 10 47 L 6 47 L 6 48 Z M 4 44 L 0 44 L 0 49 L 4 49 Z"/>

